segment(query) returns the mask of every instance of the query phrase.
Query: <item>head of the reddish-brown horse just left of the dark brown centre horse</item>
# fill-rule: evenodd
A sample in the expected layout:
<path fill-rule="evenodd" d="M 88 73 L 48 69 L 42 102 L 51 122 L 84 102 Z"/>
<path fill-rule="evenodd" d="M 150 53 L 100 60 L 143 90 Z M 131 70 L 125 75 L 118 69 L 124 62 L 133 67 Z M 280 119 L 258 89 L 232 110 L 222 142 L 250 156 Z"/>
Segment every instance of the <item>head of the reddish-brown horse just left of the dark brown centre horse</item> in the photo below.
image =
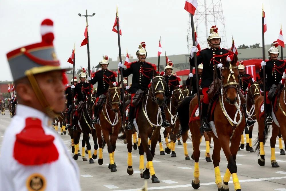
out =
<path fill-rule="evenodd" d="M 111 82 L 109 80 L 109 88 L 107 91 L 107 97 L 106 102 L 110 105 L 114 113 L 117 113 L 119 111 L 119 103 L 120 103 L 120 83 L 117 82 Z"/>

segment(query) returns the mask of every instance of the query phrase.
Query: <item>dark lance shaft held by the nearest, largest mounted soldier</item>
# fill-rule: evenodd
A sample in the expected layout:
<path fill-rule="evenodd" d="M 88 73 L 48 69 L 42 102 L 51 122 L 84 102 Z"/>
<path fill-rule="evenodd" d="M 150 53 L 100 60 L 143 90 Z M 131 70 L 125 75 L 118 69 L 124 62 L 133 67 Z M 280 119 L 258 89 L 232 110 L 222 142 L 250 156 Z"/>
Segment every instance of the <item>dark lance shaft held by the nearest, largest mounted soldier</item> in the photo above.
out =
<path fill-rule="evenodd" d="M 195 33 L 194 33 L 194 18 L 193 15 L 190 13 L 190 17 L 191 17 L 191 25 L 192 25 L 192 40 L 193 40 L 193 46 L 196 46 L 196 42 L 195 42 Z M 197 64 L 197 58 L 196 58 L 196 52 L 194 52 L 194 62 L 195 62 L 195 73 L 196 73 L 196 88 L 197 88 L 197 96 L 198 96 L 198 105 L 200 106 L 200 86 L 199 86 L 199 79 L 198 79 L 198 64 Z M 191 69 L 192 67 L 190 67 Z M 190 71 L 192 72 L 192 71 Z M 191 86 L 191 80 L 190 80 L 190 86 Z M 190 92 L 189 92 L 190 93 Z M 201 107 L 198 107 L 198 112 L 200 115 L 200 127 L 201 127 L 201 131 L 202 131 L 202 109 Z M 203 132 L 201 132 L 203 133 Z"/>

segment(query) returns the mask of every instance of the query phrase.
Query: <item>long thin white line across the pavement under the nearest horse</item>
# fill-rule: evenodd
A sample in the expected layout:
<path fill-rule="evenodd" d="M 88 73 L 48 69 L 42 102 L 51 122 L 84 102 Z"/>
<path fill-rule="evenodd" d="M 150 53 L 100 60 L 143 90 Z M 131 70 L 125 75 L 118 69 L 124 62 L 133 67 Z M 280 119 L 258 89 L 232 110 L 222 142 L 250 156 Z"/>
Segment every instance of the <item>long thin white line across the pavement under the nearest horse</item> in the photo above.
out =
<path fill-rule="evenodd" d="M 286 176 L 239 180 L 239 182 L 257 182 L 257 181 L 277 180 L 277 179 L 286 179 Z M 229 183 L 233 183 L 233 181 L 229 181 Z M 207 182 L 207 183 L 201 183 L 200 186 L 204 186 L 204 185 L 215 185 L 215 184 L 216 184 L 215 182 Z M 150 187 L 150 188 L 148 188 L 148 190 L 160 190 L 160 189 L 168 189 L 168 188 L 185 188 L 185 187 L 192 187 L 192 184 L 182 184 L 182 185 L 172 185 L 172 186 Z M 116 190 L 116 191 L 137 191 L 137 190 L 140 190 L 140 189 L 141 189 L 141 188 L 126 189 L 126 190 Z"/>

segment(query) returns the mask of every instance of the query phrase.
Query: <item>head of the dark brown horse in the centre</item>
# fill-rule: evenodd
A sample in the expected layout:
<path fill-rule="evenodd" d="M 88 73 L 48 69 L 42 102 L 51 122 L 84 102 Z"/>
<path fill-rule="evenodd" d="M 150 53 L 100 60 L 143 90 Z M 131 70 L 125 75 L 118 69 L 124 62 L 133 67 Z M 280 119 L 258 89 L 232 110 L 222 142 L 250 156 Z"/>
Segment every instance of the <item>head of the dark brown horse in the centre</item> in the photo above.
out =
<path fill-rule="evenodd" d="M 165 78 L 153 69 L 153 79 L 150 86 L 150 90 L 153 94 L 153 99 L 155 100 L 155 103 L 159 106 L 164 103 L 164 95 L 166 88 L 167 84 Z"/>

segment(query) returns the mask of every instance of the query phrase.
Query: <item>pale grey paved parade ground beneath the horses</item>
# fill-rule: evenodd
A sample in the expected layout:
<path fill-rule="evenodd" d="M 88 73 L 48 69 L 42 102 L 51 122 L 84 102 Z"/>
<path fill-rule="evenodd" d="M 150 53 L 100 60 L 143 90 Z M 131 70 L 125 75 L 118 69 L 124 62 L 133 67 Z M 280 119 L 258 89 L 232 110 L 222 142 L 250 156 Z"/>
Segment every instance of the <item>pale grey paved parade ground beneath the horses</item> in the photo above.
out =
<path fill-rule="evenodd" d="M 5 112 L 6 115 L 0 115 L 0 142 L 3 140 L 3 134 L 11 119 L 9 111 Z M 8 115 L 7 115 L 8 114 Z M 69 147 L 70 137 L 68 134 L 60 135 L 65 145 Z M 163 130 L 161 129 L 161 135 L 163 136 Z M 254 140 L 257 137 L 257 125 L 253 129 Z M 271 132 L 270 132 L 271 135 Z M 270 138 L 270 137 L 269 137 Z M 286 155 L 280 155 L 278 137 L 275 145 L 276 160 L 280 165 L 280 168 L 271 168 L 270 162 L 270 143 L 269 138 L 265 145 L 265 166 L 261 167 L 257 163 L 257 154 L 249 153 L 245 149 L 238 151 L 237 154 L 237 174 L 239 182 L 241 184 L 241 190 L 257 190 L 257 191 L 269 191 L 269 190 L 281 190 L 286 191 Z M 82 138 L 81 138 L 82 140 Z M 182 140 L 181 140 L 182 142 Z M 91 140 L 92 153 L 94 144 Z M 188 143 L 188 154 L 192 154 L 192 142 Z M 164 143 L 163 143 L 164 144 Z M 246 144 L 246 141 L 245 141 Z M 0 149 L 1 149 L 0 143 Z M 213 147 L 213 144 L 211 143 Z M 165 148 L 166 146 L 163 145 Z M 284 147 L 284 144 L 283 144 Z M 253 145 L 255 148 L 255 145 Z M 217 190 L 215 185 L 215 172 L 212 163 L 207 163 L 205 160 L 205 142 L 204 138 L 200 144 L 201 158 L 199 162 L 200 167 L 200 188 L 198 190 Z M 80 152 L 82 150 L 80 141 Z M 70 149 L 71 151 L 71 149 Z M 183 145 L 176 143 L 176 155 L 177 157 L 171 158 L 170 154 L 160 155 L 159 144 L 157 144 L 155 156 L 153 159 L 154 169 L 156 176 L 160 180 L 160 183 L 152 184 L 151 178 L 147 180 L 148 190 L 194 190 L 191 186 L 193 179 L 194 160 L 185 160 Z M 43 151 L 44 152 L 44 151 Z M 212 154 L 212 148 L 210 148 L 210 154 Z M 72 152 L 71 152 L 72 156 Z M 86 155 L 88 157 L 88 155 Z M 139 172 L 139 152 L 132 150 L 133 169 L 134 174 L 127 174 L 127 156 L 128 151 L 126 144 L 118 142 L 116 144 L 115 151 L 115 163 L 117 165 L 117 172 L 111 173 L 108 169 L 109 155 L 107 147 L 103 151 L 103 165 L 98 164 L 98 159 L 95 160 L 95 164 L 89 164 L 88 161 L 82 161 L 82 157 L 78 157 L 77 164 L 80 168 L 80 183 L 82 190 L 120 190 L 120 191 L 136 191 L 144 185 L 144 179 L 140 178 Z M 1 157 L 1 156 L 0 156 Z M 9 160 L 9 159 L 7 159 Z M 146 155 L 144 155 L 144 162 L 146 165 Z M 227 168 L 227 160 L 221 151 L 221 163 L 220 170 L 221 176 L 224 175 Z M 232 180 L 232 179 L 231 179 Z M 59 180 L 60 181 L 60 180 Z M 70 184 L 73 184 L 70 182 Z M 232 181 L 229 182 L 230 190 L 234 190 Z"/>

